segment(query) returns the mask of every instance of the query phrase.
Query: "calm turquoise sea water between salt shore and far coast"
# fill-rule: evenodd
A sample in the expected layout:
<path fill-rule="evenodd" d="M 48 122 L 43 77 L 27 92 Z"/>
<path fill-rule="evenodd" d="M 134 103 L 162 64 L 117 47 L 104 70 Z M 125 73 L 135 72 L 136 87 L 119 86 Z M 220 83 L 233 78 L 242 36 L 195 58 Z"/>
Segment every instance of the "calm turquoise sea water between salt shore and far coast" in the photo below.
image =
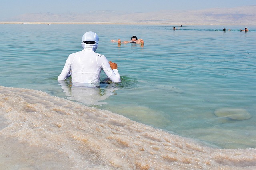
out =
<path fill-rule="evenodd" d="M 256 27 L 247 27 L 249 32 L 235 25 L 172 30 L 170 25 L 2 24 L 0 85 L 42 90 L 221 148 L 254 148 Z M 116 62 L 122 77 L 120 84 L 108 84 L 103 72 L 92 101 L 88 90 L 70 88 L 70 80 L 57 82 L 68 55 L 82 49 L 86 31 L 98 34 L 97 52 Z M 144 39 L 144 47 L 110 42 L 132 35 Z M 216 116 L 222 108 L 242 109 L 251 118 Z"/>

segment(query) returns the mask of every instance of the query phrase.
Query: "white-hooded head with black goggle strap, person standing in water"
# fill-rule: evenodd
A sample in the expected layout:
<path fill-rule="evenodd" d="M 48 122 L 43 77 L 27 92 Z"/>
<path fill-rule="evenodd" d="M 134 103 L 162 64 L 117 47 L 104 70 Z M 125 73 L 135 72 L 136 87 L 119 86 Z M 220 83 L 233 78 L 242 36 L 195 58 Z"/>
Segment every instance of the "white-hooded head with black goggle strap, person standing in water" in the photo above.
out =
<path fill-rule="evenodd" d="M 99 42 L 99 37 L 96 33 L 90 31 L 87 32 L 83 35 L 82 37 L 82 47 L 83 49 L 92 49 L 94 52 L 98 48 L 98 42 Z"/>

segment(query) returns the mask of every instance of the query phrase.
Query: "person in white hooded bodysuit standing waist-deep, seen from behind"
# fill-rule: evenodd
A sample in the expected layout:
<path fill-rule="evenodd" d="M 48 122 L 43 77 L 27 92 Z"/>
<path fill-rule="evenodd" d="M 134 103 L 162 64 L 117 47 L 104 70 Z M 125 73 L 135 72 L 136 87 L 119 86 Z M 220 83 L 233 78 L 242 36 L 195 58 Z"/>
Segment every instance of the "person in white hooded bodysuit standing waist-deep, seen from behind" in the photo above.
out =
<path fill-rule="evenodd" d="M 108 62 L 104 55 L 96 53 L 99 37 L 94 32 L 86 32 L 82 37 L 82 51 L 68 56 L 58 81 L 72 74 L 74 86 L 100 86 L 100 72 L 103 70 L 112 82 L 121 82 L 117 64 Z"/>

